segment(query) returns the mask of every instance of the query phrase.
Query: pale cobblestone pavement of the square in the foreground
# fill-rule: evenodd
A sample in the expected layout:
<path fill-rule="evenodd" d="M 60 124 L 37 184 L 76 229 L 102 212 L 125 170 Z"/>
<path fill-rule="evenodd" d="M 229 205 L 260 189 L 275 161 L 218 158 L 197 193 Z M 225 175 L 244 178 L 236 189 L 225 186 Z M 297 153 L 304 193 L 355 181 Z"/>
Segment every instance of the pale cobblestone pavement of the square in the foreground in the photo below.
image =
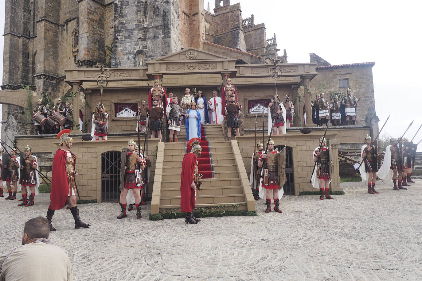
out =
<path fill-rule="evenodd" d="M 149 221 L 149 205 L 117 220 L 117 203 L 81 204 L 88 229 L 56 211 L 50 239 L 69 255 L 75 280 L 421 280 L 422 181 L 408 190 L 345 187 L 335 200 L 286 196 L 282 214 Z M 18 246 L 24 222 L 49 198 L 17 207 L 0 198 L 0 252 Z"/>

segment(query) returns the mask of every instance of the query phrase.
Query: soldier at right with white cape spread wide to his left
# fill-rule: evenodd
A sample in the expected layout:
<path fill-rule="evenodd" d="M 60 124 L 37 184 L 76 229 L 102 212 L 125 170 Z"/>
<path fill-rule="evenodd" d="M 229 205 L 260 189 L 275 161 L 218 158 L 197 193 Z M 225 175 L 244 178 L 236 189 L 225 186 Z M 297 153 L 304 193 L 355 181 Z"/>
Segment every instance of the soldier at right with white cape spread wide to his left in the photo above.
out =
<path fill-rule="evenodd" d="M 403 177 L 402 160 L 397 138 L 390 138 L 390 145 L 385 148 L 384 162 L 382 163 L 381 168 L 379 168 L 377 176 L 384 180 L 393 179 L 394 190 L 407 189 L 401 185 Z"/>

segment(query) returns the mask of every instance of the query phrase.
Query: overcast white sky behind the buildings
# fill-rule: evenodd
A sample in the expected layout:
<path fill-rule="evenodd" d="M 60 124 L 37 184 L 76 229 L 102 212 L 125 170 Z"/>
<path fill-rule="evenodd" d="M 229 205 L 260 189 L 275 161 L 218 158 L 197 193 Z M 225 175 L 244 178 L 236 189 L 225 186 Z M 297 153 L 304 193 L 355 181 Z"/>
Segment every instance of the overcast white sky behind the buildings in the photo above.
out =
<path fill-rule="evenodd" d="M 214 12 L 214 1 L 205 0 L 205 8 L 208 2 Z M 267 38 L 276 33 L 279 54 L 286 49 L 289 63 L 309 62 L 309 53 L 332 65 L 376 62 L 373 81 L 380 128 L 391 113 L 383 132 L 398 137 L 415 120 L 406 133 L 408 139 L 414 136 L 422 124 L 421 1 L 230 1 L 238 2 L 243 18 L 253 13 L 255 24 L 265 23 Z M 0 0 L 0 7 L 4 11 L 5 0 Z M 3 61 L 3 36 L 0 56 Z M 0 70 L 3 73 L 3 64 Z M 422 129 L 414 142 L 421 139 Z"/>

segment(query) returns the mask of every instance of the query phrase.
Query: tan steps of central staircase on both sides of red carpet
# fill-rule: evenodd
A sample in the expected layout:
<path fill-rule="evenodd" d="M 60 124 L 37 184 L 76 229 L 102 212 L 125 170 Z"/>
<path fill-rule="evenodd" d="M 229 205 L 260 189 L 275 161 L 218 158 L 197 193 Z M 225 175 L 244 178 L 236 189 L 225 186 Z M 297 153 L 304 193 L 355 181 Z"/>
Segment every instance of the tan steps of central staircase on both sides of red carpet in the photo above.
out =
<path fill-rule="evenodd" d="M 239 156 L 234 155 L 233 143 L 236 147 L 237 143 L 224 140 L 221 125 L 206 125 L 206 140 L 210 143 L 214 178 L 202 179 L 201 189 L 197 190 L 196 206 L 216 208 L 239 204 L 236 210 L 254 211 L 249 179 L 242 181 L 241 177 L 245 177 L 246 171 L 244 166 L 238 165 Z M 190 151 L 185 147 L 185 141 L 186 133 L 183 126 L 179 133 L 179 142 L 164 145 L 158 208 L 160 213 L 168 212 L 170 209 L 177 211 L 180 208 L 181 163 L 184 154 Z"/>

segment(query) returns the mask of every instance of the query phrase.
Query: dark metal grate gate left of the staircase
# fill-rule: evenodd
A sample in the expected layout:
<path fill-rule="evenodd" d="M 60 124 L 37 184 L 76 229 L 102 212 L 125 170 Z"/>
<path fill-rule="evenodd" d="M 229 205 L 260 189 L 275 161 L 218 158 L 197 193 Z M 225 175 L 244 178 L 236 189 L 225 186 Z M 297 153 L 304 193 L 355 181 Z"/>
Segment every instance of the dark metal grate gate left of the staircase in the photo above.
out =
<path fill-rule="evenodd" d="M 101 154 L 101 202 L 118 202 L 120 199 L 121 151 Z"/>

